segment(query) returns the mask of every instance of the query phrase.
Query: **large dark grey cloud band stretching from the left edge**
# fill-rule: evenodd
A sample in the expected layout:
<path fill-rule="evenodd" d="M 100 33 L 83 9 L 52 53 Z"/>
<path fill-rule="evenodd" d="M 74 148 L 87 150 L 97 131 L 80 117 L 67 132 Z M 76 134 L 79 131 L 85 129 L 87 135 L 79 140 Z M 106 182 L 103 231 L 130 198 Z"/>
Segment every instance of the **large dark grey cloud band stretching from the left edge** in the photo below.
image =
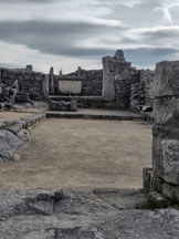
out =
<path fill-rule="evenodd" d="M 103 48 L 76 46 L 81 40 L 113 34 L 123 27 L 108 27 L 88 22 L 66 21 L 2 21 L 0 40 L 27 45 L 42 53 L 80 58 L 103 56 L 112 51 Z"/>

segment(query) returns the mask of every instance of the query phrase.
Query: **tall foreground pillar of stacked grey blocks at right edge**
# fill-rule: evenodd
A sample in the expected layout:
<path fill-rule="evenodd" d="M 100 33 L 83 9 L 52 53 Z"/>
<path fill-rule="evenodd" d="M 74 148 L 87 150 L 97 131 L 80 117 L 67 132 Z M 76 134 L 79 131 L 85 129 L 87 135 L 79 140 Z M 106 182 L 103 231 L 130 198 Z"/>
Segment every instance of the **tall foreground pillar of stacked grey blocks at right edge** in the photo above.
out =
<path fill-rule="evenodd" d="M 154 95 L 154 185 L 179 201 L 179 61 L 157 64 Z"/>

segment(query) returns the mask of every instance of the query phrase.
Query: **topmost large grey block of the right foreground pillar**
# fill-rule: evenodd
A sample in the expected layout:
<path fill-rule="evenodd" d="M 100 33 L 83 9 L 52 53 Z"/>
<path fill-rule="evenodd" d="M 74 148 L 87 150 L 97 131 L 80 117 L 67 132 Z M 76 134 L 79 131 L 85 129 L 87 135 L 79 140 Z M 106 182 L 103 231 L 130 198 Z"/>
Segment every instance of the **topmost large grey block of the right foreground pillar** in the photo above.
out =
<path fill-rule="evenodd" d="M 179 61 L 164 61 L 157 63 L 154 95 L 179 96 Z"/>

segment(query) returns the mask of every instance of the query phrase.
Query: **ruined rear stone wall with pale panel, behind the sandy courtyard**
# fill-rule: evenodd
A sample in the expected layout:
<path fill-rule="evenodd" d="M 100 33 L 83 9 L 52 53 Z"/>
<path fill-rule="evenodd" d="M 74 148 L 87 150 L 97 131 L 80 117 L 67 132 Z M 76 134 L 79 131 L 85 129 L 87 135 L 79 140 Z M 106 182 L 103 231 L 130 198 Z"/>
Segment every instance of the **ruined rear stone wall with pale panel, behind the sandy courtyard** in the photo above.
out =
<path fill-rule="evenodd" d="M 18 82 L 17 93 L 12 90 L 14 82 Z M 151 111 L 152 82 L 154 71 L 133 67 L 122 50 L 116 51 L 114 56 L 103 58 L 103 70 L 78 67 L 76 72 L 62 74 L 61 71 L 55 75 L 53 67 L 49 74 L 34 72 L 32 65 L 0 69 L 1 92 L 7 89 L 1 93 L 1 102 L 8 102 L 8 97 L 15 94 L 17 103 L 71 102 L 77 98 L 81 107 Z"/>

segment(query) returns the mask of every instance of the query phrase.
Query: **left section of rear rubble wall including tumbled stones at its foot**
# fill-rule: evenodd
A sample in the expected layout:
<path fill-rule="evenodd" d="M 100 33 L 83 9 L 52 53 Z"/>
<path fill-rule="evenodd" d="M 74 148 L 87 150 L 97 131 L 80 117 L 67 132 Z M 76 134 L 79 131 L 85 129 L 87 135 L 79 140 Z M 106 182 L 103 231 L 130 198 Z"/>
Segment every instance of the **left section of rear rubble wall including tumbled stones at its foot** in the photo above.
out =
<path fill-rule="evenodd" d="M 14 103 L 44 101 L 45 75 L 34 72 L 32 65 L 27 69 L 0 67 L 0 107 L 10 108 Z"/>

